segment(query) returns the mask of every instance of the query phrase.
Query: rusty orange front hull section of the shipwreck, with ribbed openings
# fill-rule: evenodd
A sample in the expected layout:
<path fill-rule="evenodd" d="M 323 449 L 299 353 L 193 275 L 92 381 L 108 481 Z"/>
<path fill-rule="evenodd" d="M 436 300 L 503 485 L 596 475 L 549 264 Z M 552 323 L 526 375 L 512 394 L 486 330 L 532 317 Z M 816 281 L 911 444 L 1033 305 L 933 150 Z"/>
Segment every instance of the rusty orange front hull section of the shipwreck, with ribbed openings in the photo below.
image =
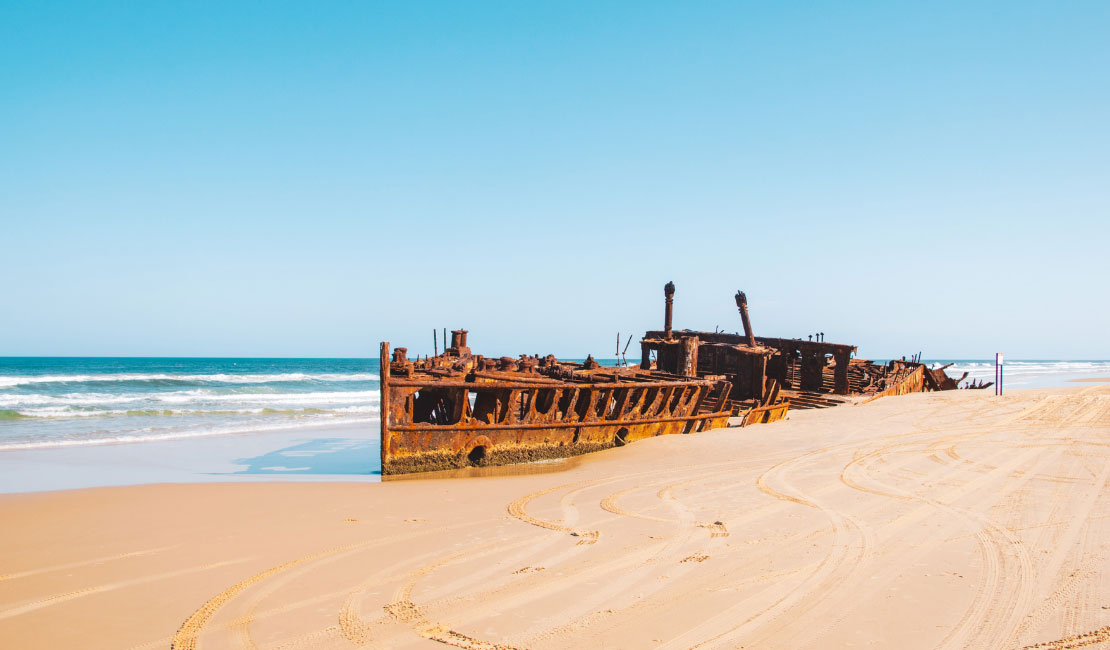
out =
<path fill-rule="evenodd" d="M 472 356 L 466 332 L 442 355 L 390 358 L 382 344 L 382 474 L 565 458 L 726 426 L 725 383 L 554 357 Z"/>

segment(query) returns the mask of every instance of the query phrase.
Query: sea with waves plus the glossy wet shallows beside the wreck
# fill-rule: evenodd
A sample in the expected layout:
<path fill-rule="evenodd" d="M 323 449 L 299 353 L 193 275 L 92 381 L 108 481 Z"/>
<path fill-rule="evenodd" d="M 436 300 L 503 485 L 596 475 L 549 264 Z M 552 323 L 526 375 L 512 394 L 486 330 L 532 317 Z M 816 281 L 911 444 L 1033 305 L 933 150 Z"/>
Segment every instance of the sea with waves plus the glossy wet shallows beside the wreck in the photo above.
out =
<path fill-rule="evenodd" d="M 952 363 L 957 377 L 993 377 L 992 360 L 934 363 Z M 377 359 L 352 358 L 0 357 L 0 492 L 373 483 L 379 373 Z M 1076 386 L 1068 380 L 1080 377 L 1110 377 L 1110 362 L 1006 365 L 1007 389 Z"/>

